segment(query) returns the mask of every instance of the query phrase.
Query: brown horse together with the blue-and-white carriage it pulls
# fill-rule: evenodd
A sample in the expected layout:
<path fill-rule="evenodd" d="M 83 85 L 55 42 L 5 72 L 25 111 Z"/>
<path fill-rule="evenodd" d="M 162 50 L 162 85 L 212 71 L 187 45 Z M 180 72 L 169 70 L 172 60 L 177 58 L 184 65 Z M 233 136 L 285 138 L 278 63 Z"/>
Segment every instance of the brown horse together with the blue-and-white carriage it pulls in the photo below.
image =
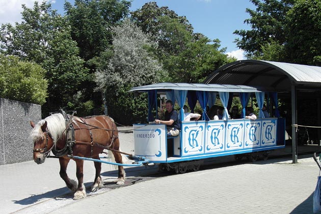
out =
<path fill-rule="evenodd" d="M 92 191 L 102 188 L 100 177 L 101 161 L 99 154 L 110 150 L 115 156 L 118 165 L 117 184 L 123 184 L 125 171 L 123 166 L 139 166 L 141 164 L 159 165 L 162 170 L 174 170 L 176 173 L 185 173 L 187 170 L 197 171 L 205 158 L 235 155 L 237 159 L 244 155 L 250 159 L 267 158 L 268 151 L 284 148 L 285 120 L 278 114 L 277 93 L 269 92 L 274 100 L 276 117 L 264 118 L 259 112 L 256 120 L 245 119 L 245 107 L 249 98 L 255 94 L 259 109 L 262 109 L 265 93 L 249 86 L 232 86 L 217 84 L 174 84 L 161 83 L 149 86 L 132 88 L 131 92 L 148 93 L 148 120 L 146 124 L 134 124 L 133 135 L 135 154 L 127 154 L 135 159 L 136 164 L 124 165 L 119 151 L 118 130 L 114 121 L 107 116 L 93 116 L 78 118 L 73 115 L 69 118 L 63 113 L 53 114 L 37 124 L 31 122 L 33 130 L 31 138 L 34 142 L 34 161 L 37 164 L 44 162 L 50 152 L 59 157 L 60 176 L 68 188 L 75 192 L 74 199 L 86 197 L 83 183 L 84 160 L 94 161 L 96 176 Z M 188 98 L 192 111 L 198 100 L 203 109 L 202 119 L 184 122 L 184 112 L 180 110 L 181 127 L 176 137 L 167 136 L 167 127 L 164 124 L 155 124 L 153 121 L 157 113 L 159 95 L 166 95 L 182 107 Z M 242 119 L 229 120 L 228 110 L 231 97 L 238 96 L 242 103 Z M 206 112 L 207 104 L 215 104 L 220 98 L 224 107 L 222 120 L 209 120 Z M 156 118 L 157 118 L 156 114 Z M 66 173 L 70 159 L 76 162 L 76 176 L 78 183 L 69 179 Z"/>

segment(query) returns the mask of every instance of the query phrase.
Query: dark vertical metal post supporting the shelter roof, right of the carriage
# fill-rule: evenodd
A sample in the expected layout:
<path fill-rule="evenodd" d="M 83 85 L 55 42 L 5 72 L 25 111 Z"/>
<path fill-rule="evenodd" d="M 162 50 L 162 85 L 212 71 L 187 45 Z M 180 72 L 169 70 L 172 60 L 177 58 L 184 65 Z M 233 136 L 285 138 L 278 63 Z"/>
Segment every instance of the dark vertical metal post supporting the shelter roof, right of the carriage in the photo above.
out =
<path fill-rule="evenodd" d="M 291 86 L 291 112 L 292 124 L 297 124 L 297 90 Z M 298 145 L 296 127 L 292 126 L 292 164 L 298 163 Z"/>

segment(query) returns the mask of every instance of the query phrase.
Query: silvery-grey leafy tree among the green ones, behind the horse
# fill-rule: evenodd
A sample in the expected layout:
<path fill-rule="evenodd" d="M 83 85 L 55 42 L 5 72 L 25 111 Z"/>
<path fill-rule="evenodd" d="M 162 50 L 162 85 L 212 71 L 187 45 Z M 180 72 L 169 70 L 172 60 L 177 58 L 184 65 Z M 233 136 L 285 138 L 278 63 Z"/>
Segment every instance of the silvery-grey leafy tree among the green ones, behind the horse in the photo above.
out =
<path fill-rule="evenodd" d="M 96 72 L 96 82 L 102 91 L 113 92 L 124 86 L 157 83 L 162 77 L 162 66 L 150 56 L 147 47 L 153 45 L 147 36 L 129 20 L 113 28 L 114 56 Z"/>

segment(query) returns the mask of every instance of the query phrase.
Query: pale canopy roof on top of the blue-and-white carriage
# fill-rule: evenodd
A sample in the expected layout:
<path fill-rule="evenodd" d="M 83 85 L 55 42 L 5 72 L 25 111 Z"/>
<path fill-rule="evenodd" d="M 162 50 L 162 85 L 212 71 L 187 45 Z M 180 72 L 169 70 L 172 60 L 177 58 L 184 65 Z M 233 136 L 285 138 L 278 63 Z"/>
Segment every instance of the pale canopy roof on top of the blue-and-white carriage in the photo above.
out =
<path fill-rule="evenodd" d="M 220 84 L 191 84 L 191 83 L 157 83 L 147 86 L 134 87 L 131 92 L 147 92 L 150 90 L 169 91 L 213 91 L 213 92 L 262 92 L 258 88 L 240 85 L 220 85 Z"/>

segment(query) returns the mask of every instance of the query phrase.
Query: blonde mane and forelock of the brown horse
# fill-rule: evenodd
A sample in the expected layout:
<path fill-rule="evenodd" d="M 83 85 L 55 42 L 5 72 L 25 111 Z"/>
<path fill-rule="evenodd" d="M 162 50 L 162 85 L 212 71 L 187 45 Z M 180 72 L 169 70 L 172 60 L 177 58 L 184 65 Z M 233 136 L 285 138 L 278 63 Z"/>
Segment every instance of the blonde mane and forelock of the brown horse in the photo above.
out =
<path fill-rule="evenodd" d="M 40 120 L 32 129 L 30 133 L 30 138 L 33 142 L 37 142 L 38 140 L 43 138 L 41 126 L 44 124 L 45 121 L 47 121 L 48 131 L 51 133 L 52 138 L 56 143 L 58 138 L 62 137 L 61 135 L 65 135 L 64 131 L 66 129 L 66 122 L 64 116 L 60 113 L 50 115 L 49 117 Z"/>

